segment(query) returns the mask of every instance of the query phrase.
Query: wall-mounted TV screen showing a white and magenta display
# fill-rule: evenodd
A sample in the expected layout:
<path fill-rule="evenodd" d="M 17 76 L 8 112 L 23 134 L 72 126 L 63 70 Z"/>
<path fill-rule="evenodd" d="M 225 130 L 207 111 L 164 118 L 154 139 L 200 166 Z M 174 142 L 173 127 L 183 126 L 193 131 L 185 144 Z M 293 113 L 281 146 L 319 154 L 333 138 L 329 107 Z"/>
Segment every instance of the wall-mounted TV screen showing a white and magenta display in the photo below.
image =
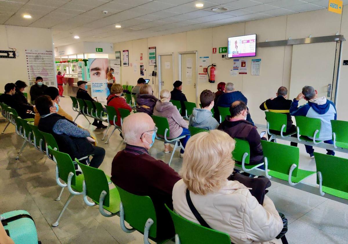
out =
<path fill-rule="evenodd" d="M 229 58 L 251 56 L 256 56 L 256 34 L 228 38 Z"/>

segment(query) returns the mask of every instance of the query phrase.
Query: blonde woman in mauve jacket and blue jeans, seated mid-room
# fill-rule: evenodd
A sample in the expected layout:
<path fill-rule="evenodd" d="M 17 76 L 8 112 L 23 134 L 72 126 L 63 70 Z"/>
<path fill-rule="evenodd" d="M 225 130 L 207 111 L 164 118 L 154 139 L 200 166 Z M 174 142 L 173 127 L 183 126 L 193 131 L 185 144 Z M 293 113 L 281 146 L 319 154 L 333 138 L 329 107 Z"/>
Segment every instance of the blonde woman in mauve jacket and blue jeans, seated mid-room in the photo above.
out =
<path fill-rule="evenodd" d="M 190 138 L 190 131 L 188 130 L 188 123 L 181 117 L 179 110 L 170 102 L 171 93 L 164 89 L 160 92 L 161 100 L 156 102 L 155 108 L 153 109 L 153 115 L 166 117 L 169 124 L 169 137 L 168 139 L 174 139 L 179 136 L 185 136 L 180 139 L 182 146 L 185 145 Z M 170 145 L 164 145 L 164 153 L 171 152 Z M 184 151 L 180 150 L 180 158 L 183 157 Z"/>

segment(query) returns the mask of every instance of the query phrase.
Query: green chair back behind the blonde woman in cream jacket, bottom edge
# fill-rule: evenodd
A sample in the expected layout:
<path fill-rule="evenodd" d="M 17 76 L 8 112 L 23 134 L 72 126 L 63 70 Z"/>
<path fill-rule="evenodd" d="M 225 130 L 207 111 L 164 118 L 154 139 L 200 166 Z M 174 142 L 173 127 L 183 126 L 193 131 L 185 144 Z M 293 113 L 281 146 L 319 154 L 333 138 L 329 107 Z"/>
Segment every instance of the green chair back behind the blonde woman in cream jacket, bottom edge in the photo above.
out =
<path fill-rule="evenodd" d="M 228 234 L 193 223 L 165 206 L 174 223 L 175 244 L 231 244 Z"/>

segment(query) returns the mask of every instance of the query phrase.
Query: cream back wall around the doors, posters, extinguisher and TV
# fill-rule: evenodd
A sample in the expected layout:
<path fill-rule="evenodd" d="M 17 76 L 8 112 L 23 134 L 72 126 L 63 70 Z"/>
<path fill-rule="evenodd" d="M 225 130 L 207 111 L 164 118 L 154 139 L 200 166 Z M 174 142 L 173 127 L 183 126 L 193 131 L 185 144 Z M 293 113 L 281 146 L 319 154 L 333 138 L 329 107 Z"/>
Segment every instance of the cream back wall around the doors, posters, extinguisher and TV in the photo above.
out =
<path fill-rule="evenodd" d="M 341 20 L 342 18 L 342 20 Z M 341 28 L 342 23 L 342 28 Z M 274 97 L 279 86 L 290 88 L 292 46 L 258 48 L 257 56 L 246 58 L 247 75 L 230 76 L 229 70 L 232 68 L 232 60 L 224 60 L 221 54 L 212 54 L 213 47 L 227 46 L 227 38 L 238 35 L 257 34 L 257 41 L 263 42 L 273 40 L 284 40 L 288 38 L 305 38 L 312 35 L 330 36 L 339 32 L 346 35 L 348 39 L 348 10 L 343 10 L 343 15 L 329 12 L 327 9 L 272 17 L 262 20 L 249 21 L 223 25 L 214 28 L 207 28 L 195 31 L 181 32 L 172 35 L 145 38 L 122 43 L 115 43 L 114 50 L 129 50 L 129 62 L 139 63 L 140 53 L 143 53 L 144 62 L 147 62 L 148 47 L 156 46 L 157 55 L 160 53 L 174 53 L 175 79 L 179 77 L 178 52 L 198 51 L 198 56 L 209 56 L 210 63 L 216 63 L 215 83 L 198 82 L 198 94 L 204 89 L 216 91 L 216 85 L 219 82 L 232 82 L 236 90 L 242 91 L 248 98 L 248 107 L 252 118 L 257 124 L 265 124 L 264 112 L 259 109 L 262 101 Z M 342 60 L 348 59 L 348 44 L 343 42 Z M 321 52 L 322 50 L 318 50 Z M 121 54 L 122 55 L 122 54 Z M 261 58 L 260 76 L 251 76 L 251 59 Z M 306 57 L 303 57 L 306 58 Z M 121 57 L 122 59 L 122 57 Z M 332 69 L 332 67 L 323 67 Z M 338 117 L 348 120 L 347 108 L 342 104 L 347 103 L 348 98 L 344 96 L 343 91 L 348 88 L 345 77 L 348 76 L 348 66 L 340 66 L 341 75 L 338 92 Z M 152 72 L 153 66 L 147 67 L 147 74 Z M 202 67 L 198 67 L 198 73 L 202 73 Z M 121 67 L 121 83 L 135 85 L 140 77 L 139 71 L 134 72 L 133 67 Z M 156 81 L 158 78 L 156 77 Z M 328 82 L 330 83 L 330 82 Z M 303 84 L 305 85 L 305 84 Z M 155 84 L 155 90 L 158 90 L 158 84 Z M 185 91 L 183 91 L 185 93 Z M 300 91 L 292 91 L 290 99 Z M 343 93 L 343 95 L 342 95 Z"/>

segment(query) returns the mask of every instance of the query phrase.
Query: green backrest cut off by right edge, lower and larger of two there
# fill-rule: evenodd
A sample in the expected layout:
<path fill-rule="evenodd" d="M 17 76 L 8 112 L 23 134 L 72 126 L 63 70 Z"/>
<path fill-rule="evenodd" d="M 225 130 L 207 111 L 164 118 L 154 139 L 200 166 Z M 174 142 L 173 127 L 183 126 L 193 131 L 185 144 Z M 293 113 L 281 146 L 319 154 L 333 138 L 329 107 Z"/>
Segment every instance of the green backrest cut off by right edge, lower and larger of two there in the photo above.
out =
<path fill-rule="evenodd" d="M 314 152 L 314 157 L 317 171 L 323 176 L 323 186 L 348 192 L 348 159 L 317 152 Z M 318 176 L 317 184 L 319 184 Z"/>

